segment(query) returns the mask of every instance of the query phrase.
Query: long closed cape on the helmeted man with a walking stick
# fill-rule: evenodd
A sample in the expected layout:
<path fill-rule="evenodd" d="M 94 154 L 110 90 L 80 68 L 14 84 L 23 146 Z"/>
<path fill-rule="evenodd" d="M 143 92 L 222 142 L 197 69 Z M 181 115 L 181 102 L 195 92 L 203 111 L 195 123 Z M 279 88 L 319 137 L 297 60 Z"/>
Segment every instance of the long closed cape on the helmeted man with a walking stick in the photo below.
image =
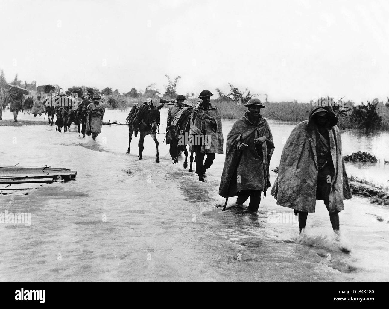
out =
<path fill-rule="evenodd" d="M 224 161 L 223 174 L 221 176 L 219 195 L 233 197 L 238 195 L 238 190 L 261 190 L 266 196 L 269 188 L 269 164 L 272 158 L 274 146 L 263 142 L 255 147 L 254 139 L 265 136 L 273 141 L 273 135 L 265 118 L 260 118 L 255 125 L 247 117 L 235 121 L 227 136 L 226 159 Z M 248 144 L 248 147 L 240 151 L 240 144 Z M 258 152 L 257 149 L 261 149 Z"/>

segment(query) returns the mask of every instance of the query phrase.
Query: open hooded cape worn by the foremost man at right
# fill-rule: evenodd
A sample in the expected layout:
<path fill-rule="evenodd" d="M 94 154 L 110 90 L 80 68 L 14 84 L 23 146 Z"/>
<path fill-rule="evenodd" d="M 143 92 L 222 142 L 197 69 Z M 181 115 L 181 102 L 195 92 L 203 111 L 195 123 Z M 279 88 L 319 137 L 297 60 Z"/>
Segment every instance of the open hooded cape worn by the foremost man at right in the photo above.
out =
<path fill-rule="evenodd" d="M 331 179 L 329 210 L 342 211 L 343 200 L 352 197 L 342 157 L 342 140 L 336 125 L 338 118 L 331 107 L 314 107 L 309 119 L 300 122 L 291 132 L 282 150 L 279 173 L 271 194 L 277 204 L 302 212 L 315 212 L 317 190 L 316 134 L 313 116 L 317 112 L 331 114 L 329 144 L 335 176 Z"/>

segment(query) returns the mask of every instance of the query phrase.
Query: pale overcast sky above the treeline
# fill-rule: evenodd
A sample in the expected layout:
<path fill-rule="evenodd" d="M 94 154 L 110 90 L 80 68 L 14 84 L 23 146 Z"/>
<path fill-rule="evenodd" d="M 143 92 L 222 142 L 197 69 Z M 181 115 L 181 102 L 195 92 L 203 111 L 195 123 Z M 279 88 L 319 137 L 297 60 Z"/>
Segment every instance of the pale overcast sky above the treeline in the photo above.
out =
<path fill-rule="evenodd" d="M 168 74 L 184 94 L 386 99 L 388 17 L 385 1 L 0 0 L 0 68 L 62 88 L 163 91 Z"/>

